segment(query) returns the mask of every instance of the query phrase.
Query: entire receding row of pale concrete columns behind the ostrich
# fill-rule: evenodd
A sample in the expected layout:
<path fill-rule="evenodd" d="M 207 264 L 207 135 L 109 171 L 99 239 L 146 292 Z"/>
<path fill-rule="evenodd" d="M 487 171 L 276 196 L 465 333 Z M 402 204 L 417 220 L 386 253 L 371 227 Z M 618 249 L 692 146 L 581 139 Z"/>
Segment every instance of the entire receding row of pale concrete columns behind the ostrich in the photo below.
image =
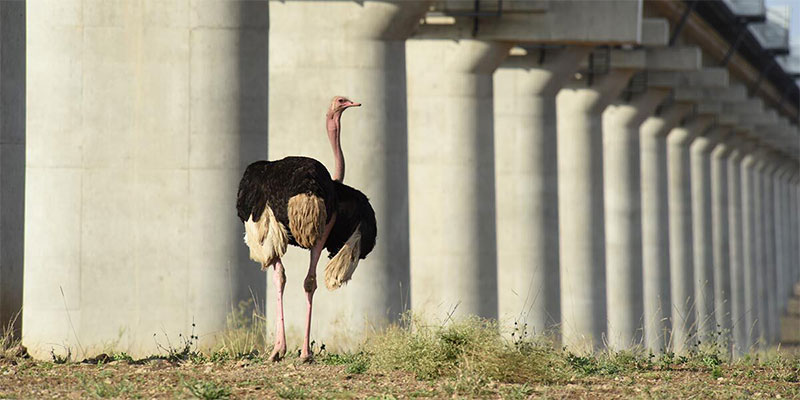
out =
<path fill-rule="evenodd" d="M 637 12 L 619 3 L 613 13 Z M 254 159 L 294 154 L 332 165 L 323 115 L 339 94 L 364 104 L 343 117 L 342 145 L 346 183 L 375 208 L 378 245 L 346 288 L 318 292 L 313 335 L 326 344 L 356 343 L 409 308 L 555 329 L 571 348 L 644 341 L 684 351 L 717 324 L 741 347 L 774 339 L 773 314 L 798 278 L 797 182 L 792 162 L 753 142 L 765 133 L 731 139 L 719 117 L 665 102 L 669 85 L 620 99 L 655 53 L 614 50 L 627 64 L 597 73 L 586 66 L 592 46 L 480 40 L 453 35 L 458 26 L 414 33 L 429 6 L 275 1 L 268 16 L 262 2 L 208 1 L 164 18 L 146 6 L 76 6 L 72 19 L 31 7 L 46 24 L 30 30 L 38 61 L 29 82 L 47 78 L 45 65 L 65 71 L 28 87 L 29 347 L 120 335 L 147 352 L 143 338 L 175 336 L 195 317 L 201 337 L 213 337 L 231 303 L 264 289 L 236 234 L 238 174 Z M 140 29 L 151 25 L 163 32 Z M 85 34 L 70 36 L 76 27 Z M 166 34 L 176 48 L 149 41 Z M 108 35 L 129 50 L 104 45 Z M 509 57 L 519 43 L 527 55 Z M 151 65 L 151 51 L 169 61 Z M 699 68 L 690 60 L 676 68 Z M 661 61 L 653 65 L 676 62 Z M 86 104 L 45 118 L 43 99 L 76 96 Z M 109 96 L 125 107 L 101 101 Z M 106 141 L 101 132 L 120 118 L 130 124 Z M 83 135 L 86 150 L 59 152 L 62 131 Z M 303 323 L 306 254 L 284 259 L 290 337 Z"/>

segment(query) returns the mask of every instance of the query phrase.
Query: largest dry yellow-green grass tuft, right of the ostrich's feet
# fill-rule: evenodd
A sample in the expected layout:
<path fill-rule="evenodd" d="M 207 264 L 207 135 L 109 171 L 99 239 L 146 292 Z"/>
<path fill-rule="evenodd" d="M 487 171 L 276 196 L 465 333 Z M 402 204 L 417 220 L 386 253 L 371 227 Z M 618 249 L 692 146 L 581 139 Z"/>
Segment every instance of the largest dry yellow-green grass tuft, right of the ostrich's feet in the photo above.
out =
<path fill-rule="evenodd" d="M 376 369 L 408 371 L 424 380 L 556 383 L 569 378 L 567 362 L 552 345 L 505 339 L 496 322 L 476 317 L 429 325 L 408 315 L 368 338 L 364 352 Z"/>

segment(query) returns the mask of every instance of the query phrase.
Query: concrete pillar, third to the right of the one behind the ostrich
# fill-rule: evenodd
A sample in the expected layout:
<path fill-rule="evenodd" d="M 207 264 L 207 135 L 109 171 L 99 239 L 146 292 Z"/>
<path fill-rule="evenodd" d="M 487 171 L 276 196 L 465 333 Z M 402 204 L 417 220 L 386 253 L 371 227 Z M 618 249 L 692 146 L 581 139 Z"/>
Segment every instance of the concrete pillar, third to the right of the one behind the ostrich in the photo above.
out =
<path fill-rule="evenodd" d="M 606 329 L 602 112 L 632 74 L 612 70 L 556 96 L 562 339 L 576 350 L 601 344 Z"/>

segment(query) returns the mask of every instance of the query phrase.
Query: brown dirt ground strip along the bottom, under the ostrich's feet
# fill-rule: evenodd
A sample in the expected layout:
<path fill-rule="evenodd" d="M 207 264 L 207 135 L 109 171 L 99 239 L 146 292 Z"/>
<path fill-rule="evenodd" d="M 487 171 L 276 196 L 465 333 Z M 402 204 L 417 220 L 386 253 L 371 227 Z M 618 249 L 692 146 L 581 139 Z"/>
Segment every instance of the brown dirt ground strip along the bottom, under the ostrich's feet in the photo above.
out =
<path fill-rule="evenodd" d="M 797 365 L 794 365 L 797 363 Z M 568 383 L 418 380 L 348 365 L 262 358 L 54 363 L 0 360 L 0 398 L 800 398 L 800 361 L 703 368 L 575 373 Z"/>

